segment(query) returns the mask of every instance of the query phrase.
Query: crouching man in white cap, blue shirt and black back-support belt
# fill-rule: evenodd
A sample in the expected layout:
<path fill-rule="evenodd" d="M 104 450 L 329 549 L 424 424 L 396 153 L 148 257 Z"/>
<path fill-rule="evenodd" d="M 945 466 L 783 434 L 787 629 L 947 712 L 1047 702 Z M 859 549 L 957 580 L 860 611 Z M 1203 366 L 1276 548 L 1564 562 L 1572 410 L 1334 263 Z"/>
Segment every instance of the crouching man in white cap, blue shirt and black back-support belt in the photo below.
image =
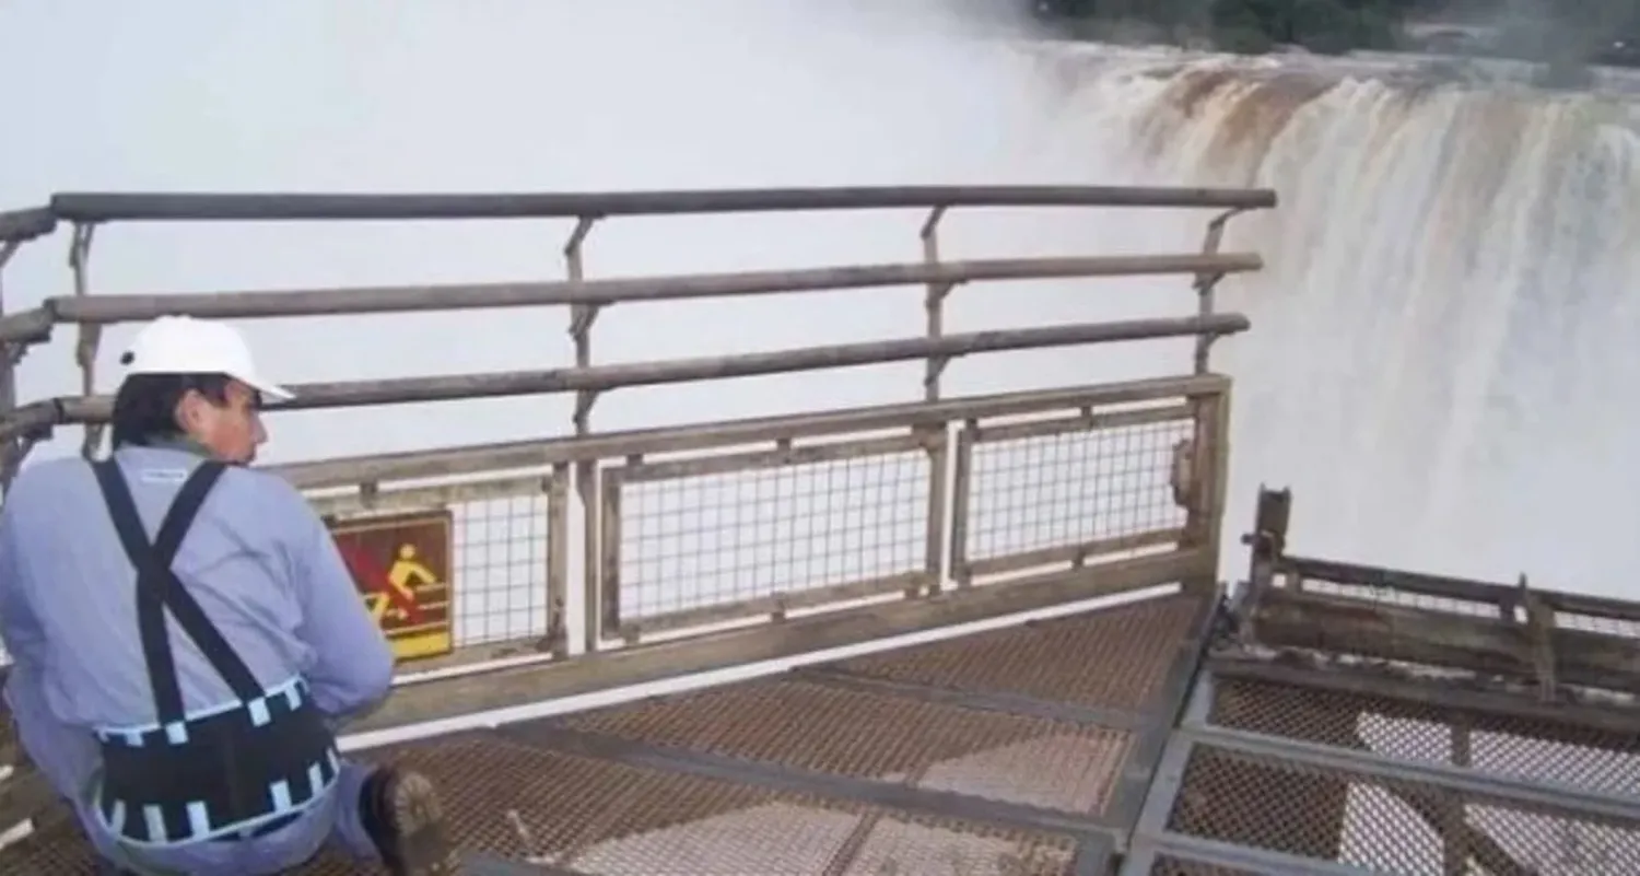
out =
<path fill-rule="evenodd" d="M 279 873 L 331 837 L 454 873 L 426 778 L 336 753 L 394 661 L 302 494 L 244 468 L 290 392 L 208 320 L 154 320 L 121 363 L 110 459 L 30 466 L 0 507 L 28 755 L 126 873 Z"/>

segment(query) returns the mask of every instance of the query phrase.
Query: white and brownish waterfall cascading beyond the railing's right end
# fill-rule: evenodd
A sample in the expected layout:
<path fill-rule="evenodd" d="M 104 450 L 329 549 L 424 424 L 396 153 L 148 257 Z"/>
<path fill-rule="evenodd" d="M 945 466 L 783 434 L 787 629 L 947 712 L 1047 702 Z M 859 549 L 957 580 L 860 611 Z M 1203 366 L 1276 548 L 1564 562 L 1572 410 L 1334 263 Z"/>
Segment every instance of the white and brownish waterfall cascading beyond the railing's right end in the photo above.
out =
<path fill-rule="evenodd" d="M 1632 597 L 1640 103 L 1097 57 L 1055 61 L 1068 125 L 1146 182 L 1281 197 L 1227 236 L 1266 259 L 1222 285 L 1255 323 L 1217 359 L 1238 377 L 1227 535 L 1260 481 L 1289 484 L 1305 553 Z"/>

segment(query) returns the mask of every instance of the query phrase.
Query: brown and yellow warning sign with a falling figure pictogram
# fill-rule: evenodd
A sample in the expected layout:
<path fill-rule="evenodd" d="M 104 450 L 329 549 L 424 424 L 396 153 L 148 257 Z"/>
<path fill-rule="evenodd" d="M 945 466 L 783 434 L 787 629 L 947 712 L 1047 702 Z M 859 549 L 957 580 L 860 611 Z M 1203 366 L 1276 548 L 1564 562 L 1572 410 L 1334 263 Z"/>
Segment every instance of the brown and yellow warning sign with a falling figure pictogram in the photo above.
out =
<path fill-rule="evenodd" d="M 449 510 L 336 520 L 353 582 L 399 659 L 448 655 L 454 646 Z"/>

